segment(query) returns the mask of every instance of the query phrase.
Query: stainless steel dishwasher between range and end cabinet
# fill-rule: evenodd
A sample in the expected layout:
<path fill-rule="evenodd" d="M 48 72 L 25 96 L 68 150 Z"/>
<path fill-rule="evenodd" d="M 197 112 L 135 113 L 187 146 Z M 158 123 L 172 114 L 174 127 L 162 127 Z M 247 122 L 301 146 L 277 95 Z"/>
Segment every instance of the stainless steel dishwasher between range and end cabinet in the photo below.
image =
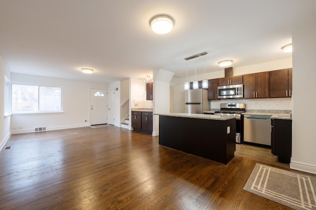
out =
<path fill-rule="evenodd" d="M 244 115 L 243 141 L 271 146 L 271 117 Z"/>

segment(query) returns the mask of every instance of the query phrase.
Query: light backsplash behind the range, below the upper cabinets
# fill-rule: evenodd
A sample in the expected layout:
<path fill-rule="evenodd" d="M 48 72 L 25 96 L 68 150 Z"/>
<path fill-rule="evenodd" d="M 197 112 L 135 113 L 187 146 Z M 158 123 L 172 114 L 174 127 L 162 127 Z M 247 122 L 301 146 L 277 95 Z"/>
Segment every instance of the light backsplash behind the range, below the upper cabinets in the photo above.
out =
<path fill-rule="evenodd" d="M 221 103 L 245 103 L 247 110 L 292 110 L 292 98 L 222 99 L 210 102 L 211 110 L 220 109 Z"/>

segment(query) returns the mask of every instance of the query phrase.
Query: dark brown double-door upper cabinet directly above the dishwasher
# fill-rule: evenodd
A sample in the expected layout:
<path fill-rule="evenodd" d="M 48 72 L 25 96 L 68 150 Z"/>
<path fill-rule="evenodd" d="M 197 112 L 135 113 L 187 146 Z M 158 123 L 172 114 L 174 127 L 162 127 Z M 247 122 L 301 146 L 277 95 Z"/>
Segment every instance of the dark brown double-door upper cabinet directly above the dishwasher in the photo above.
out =
<path fill-rule="evenodd" d="M 269 72 L 243 75 L 244 98 L 269 98 Z"/>

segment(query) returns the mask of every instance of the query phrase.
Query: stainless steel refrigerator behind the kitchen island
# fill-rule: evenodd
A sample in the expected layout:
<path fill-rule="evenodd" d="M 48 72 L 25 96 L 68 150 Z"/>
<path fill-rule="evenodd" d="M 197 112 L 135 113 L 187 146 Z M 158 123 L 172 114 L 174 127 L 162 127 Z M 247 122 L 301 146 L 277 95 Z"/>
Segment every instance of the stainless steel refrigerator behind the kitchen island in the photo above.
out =
<path fill-rule="evenodd" d="M 203 114 L 209 111 L 209 103 L 207 100 L 207 90 L 194 89 L 184 90 L 184 112 L 189 114 Z"/>

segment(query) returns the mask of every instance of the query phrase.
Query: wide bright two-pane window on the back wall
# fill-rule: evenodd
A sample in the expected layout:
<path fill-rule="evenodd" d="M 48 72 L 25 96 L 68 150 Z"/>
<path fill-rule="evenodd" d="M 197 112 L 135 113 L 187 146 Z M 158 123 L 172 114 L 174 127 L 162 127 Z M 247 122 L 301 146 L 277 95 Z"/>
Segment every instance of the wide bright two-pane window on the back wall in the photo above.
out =
<path fill-rule="evenodd" d="M 61 88 L 12 84 L 12 113 L 60 111 Z"/>

